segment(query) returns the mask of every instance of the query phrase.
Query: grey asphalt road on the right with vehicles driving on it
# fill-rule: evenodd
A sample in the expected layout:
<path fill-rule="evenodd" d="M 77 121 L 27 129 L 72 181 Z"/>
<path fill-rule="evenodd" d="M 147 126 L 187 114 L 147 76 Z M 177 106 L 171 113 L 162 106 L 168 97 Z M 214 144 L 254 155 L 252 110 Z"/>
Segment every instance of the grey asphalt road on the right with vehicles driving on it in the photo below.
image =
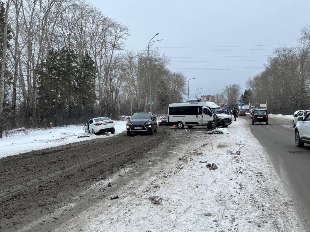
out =
<path fill-rule="evenodd" d="M 304 148 L 295 146 L 294 128 L 288 119 L 270 116 L 269 125 L 252 125 L 250 117 L 242 119 L 265 148 L 286 190 L 293 197 L 301 221 L 310 231 L 310 145 L 305 144 Z"/>

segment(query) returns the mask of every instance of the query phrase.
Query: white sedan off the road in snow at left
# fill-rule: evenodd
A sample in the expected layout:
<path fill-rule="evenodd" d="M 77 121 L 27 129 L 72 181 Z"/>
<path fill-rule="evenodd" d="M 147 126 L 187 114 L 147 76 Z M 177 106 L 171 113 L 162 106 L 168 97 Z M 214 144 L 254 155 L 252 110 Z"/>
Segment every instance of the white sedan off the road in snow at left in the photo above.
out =
<path fill-rule="evenodd" d="M 90 119 L 85 125 L 85 132 L 97 135 L 103 132 L 115 133 L 114 122 L 108 117 L 99 117 Z"/>

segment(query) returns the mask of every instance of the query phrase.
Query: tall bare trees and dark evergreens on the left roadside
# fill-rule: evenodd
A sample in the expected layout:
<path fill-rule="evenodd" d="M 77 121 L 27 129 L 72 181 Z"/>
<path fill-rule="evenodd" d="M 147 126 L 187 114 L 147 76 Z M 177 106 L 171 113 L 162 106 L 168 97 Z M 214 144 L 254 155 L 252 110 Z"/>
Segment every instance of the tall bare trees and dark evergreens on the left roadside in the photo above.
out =
<path fill-rule="evenodd" d="M 122 47 L 129 29 L 84 1 L 0 1 L 0 138 L 17 127 L 81 123 L 181 101 L 186 79 L 152 48 Z M 155 33 L 154 33 L 155 34 Z M 152 35 L 150 35 L 152 36 Z"/>

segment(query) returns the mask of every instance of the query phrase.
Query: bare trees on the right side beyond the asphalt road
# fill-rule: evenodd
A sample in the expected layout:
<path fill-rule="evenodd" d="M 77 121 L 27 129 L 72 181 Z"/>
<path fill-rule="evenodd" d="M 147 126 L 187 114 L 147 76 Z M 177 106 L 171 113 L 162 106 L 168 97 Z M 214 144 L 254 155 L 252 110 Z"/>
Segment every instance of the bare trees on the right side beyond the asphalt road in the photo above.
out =
<path fill-rule="evenodd" d="M 266 104 L 271 113 L 293 114 L 310 108 L 310 26 L 301 29 L 300 46 L 281 47 L 268 58 L 265 70 L 247 81 L 246 99 Z"/>

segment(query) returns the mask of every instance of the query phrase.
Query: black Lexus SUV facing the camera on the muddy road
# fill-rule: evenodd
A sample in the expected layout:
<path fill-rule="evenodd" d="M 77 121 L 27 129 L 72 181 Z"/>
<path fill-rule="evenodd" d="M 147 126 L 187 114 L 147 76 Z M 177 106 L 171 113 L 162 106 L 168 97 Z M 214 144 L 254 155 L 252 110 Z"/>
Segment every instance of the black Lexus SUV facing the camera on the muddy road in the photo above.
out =
<path fill-rule="evenodd" d="M 128 118 L 126 125 L 127 135 L 132 132 L 150 132 L 151 135 L 157 132 L 156 118 L 152 113 L 135 113 L 131 118 Z"/>

